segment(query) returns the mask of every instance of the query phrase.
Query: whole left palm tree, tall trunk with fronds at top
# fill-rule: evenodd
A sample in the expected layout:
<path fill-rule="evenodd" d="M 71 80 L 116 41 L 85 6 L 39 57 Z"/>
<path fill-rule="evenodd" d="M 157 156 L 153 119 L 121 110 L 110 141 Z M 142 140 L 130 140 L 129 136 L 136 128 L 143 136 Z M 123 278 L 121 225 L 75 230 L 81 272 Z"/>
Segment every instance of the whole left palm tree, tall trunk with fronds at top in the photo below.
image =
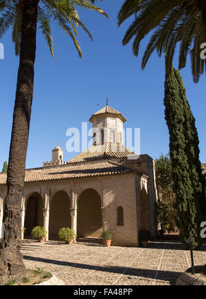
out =
<path fill-rule="evenodd" d="M 76 27 L 82 27 L 90 38 L 91 34 L 80 21 L 77 7 L 95 10 L 106 16 L 103 10 L 93 5 L 94 1 L 0 0 L 0 38 L 12 27 L 15 52 L 20 56 L 8 163 L 8 193 L 3 216 L 4 237 L 0 243 L 0 284 L 8 280 L 20 281 L 25 276 L 20 252 L 21 199 L 34 88 L 37 24 L 40 24 L 53 57 L 51 21 L 56 21 L 69 34 L 81 56 Z"/>

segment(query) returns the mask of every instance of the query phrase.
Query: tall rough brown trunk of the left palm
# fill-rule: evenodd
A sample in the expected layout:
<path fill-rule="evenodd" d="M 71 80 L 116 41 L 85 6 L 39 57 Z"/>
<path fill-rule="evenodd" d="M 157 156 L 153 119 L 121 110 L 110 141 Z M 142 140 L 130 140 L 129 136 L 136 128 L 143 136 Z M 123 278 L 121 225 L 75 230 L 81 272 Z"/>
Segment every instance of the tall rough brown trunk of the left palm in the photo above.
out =
<path fill-rule="evenodd" d="M 8 280 L 19 282 L 25 276 L 20 252 L 21 201 L 34 88 L 38 1 L 27 0 L 23 3 L 19 73 L 8 164 L 8 193 L 3 216 L 4 237 L 0 243 L 0 285 Z"/>

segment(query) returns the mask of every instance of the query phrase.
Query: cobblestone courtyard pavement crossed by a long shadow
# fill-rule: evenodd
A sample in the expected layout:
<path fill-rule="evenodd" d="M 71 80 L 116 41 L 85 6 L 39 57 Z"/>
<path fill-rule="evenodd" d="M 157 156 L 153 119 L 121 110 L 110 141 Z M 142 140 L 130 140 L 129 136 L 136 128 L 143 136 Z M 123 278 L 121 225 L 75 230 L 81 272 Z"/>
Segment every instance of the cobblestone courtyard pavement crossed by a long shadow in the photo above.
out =
<path fill-rule="evenodd" d="M 148 248 L 23 241 L 21 252 L 27 269 L 41 267 L 65 285 L 174 285 L 191 266 L 190 251 L 177 241 Z M 206 263 L 206 245 L 194 252 L 194 263 Z"/>

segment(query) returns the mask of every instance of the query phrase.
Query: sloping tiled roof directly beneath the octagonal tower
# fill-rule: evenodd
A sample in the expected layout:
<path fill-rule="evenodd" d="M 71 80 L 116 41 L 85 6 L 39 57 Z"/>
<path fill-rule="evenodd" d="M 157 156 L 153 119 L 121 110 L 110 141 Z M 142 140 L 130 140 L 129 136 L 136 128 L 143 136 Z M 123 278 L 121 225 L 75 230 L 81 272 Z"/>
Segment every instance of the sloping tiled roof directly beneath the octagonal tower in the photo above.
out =
<path fill-rule="evenodd" d="M 123 158 L 136 156 L 133 151 L 130 151 L 123 144 L 107 143 L 98 146 L 91 146 L 87 151 L 71 159 L 68 163 L 87 162 L 91 160 Z"/>

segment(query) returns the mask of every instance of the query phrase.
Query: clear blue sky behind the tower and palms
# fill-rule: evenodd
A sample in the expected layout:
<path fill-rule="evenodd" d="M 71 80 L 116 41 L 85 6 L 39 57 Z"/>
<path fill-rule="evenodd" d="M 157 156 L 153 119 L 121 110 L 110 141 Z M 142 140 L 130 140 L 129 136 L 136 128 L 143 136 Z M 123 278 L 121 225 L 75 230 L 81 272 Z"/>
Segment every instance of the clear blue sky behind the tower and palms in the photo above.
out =
<path fill-rule="evenodd" d="M 65 161 L 76 155 L 66 151 L 67 129 L 80 129 L 82 122 L 88 122 L 95 111 L 105 106 L 106 97 L 109 105 L 127 118 L 126 127 L 141 129 L 141 154 L 155 159 L 161 153 L 168 153 L 169 135 L 163 107 L 164 58 L 153 54 L 142 71 L 141 56 L 148 38 L 141 44 L 138 58 L 133 56 L 132 43 L 126 47 L 122 45 L 130 23 L 127 21 L 117 27 L 117 13 L 123 2 L 104 0 L 98 3 L 107 12 L 109 20 L 97 12 L 80 11 L 80 18 L 93 35 L 91 42 L 83 30 L 78 30 L 83 54 L 81 59 L 71 39 L 53 25 L 54 62 L 43 36 L 38 32 L 27 168 L 39 167 L 43 161 L 50 161 L 52 148 L 57 142 L 65 151 Z M 0 60 L 0 170 L 3 161 L 8 159 L 19 65 L 19 58 L 14 55 L 11 32 L 2 38 L 1 43 L 5 46 L 5 59 Z M 174 66 L 177 66 L 176 61 Z M 190 59 L 181 74 L 187 100 L 196 118 L 201 162 L 206 163 L 205 76 L 194 84 Z"/>

